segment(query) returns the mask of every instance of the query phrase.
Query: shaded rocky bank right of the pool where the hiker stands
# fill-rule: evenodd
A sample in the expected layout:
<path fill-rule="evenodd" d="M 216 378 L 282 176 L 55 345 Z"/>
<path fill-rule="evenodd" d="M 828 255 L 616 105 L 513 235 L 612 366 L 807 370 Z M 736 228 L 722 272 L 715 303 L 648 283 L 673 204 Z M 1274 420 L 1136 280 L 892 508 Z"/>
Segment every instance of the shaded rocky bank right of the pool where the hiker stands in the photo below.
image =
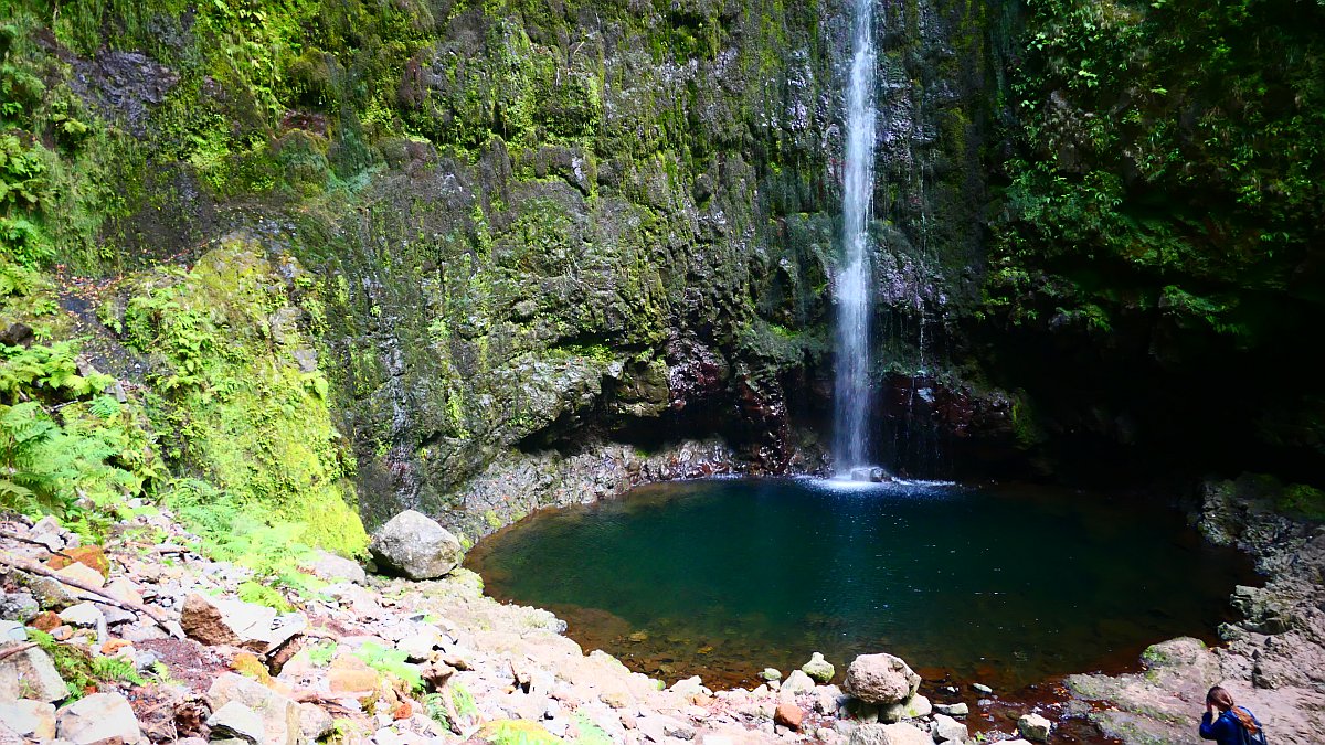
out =
<path fill-rule="evenodd" d="M 1272 742 L 1321 742 L 1325 526 L 1285 516 L 1291 497 L 1256 476 L 1207 483 L 1198 528 L 1211 542 L 1253 555 L 1265 586 L 1235 590 L 1232 603 L 1243 618 L 1220 627 L 1226 644 L 1173 639 L 1145 652 L 1141 672 L 1068 677 L 1069 712 L 1128 745 L 1196 745 L 1206 691 L 1223 685 L 1265 724 Z"/>

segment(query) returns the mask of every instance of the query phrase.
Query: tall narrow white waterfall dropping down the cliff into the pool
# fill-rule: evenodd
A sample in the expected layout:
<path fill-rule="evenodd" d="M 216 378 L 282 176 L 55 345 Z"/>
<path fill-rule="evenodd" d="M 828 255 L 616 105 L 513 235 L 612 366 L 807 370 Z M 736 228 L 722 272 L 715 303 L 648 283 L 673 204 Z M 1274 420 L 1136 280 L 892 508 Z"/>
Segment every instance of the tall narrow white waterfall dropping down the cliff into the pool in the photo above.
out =
<path fill-rule="evenodd" d="M 869 221 L 874 188 L 873 0 L 855 0 L 851 84 L 847 89 L 847 152 L 843 178 L 844 261 L 837 276 L 833 459 L 847 475 L 869 459 Z"/>

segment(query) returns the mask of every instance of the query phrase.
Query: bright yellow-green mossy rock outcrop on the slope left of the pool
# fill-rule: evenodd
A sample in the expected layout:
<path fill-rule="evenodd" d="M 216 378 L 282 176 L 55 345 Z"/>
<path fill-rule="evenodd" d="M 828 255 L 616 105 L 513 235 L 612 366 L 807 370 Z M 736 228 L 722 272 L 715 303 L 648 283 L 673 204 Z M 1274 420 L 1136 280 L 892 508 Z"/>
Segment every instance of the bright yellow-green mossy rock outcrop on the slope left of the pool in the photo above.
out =
<path fill-rule="evenodd" d="M 329 383 L 297 308 L 265 256 L 233 239 L 188 273 L 130 282 L 123 329 L 151 354 L 171 456 L 269 520 L 301 525 L 305 544 L 347 554 L 367 545 L 350 461 L 331 423 Z"/>

